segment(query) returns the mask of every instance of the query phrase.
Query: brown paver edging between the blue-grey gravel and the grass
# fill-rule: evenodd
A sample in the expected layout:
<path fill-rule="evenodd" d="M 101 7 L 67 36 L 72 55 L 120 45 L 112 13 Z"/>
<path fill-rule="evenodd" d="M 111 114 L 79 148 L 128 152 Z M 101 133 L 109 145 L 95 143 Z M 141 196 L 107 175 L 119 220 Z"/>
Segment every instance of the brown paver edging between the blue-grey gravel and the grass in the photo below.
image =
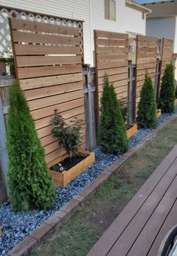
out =
<path fill-rule="evenodd" d="M 100 174 L 96 180 L 93 181 L 93 183 L 90 183 L 90 185 L 87 186 L 81 193 L 75 195 L 75 197 L 72 198 L 72 200 L 70 200 L 67 204 L 65 204 L 63 208 L 60 208 L 59 211 L 56 211 L 56 213 L 49 217 L 43 224 L 41 224 L 38 229 L 35 229 L 29 236 L 26 237 L 26 239 L 24 239 L 11 251 L 9 251 L 6 256 L 23 256 L 29 251 L 32 251 L 32 249 L 35 249 L 41 245 L 41 243 L 44 242 L 44 240 L 47 239 L 47 237 L 55 231 L 56 227 L 61 226 L 63 223 L 66 223 L 66 221 L 69 220 L 69 217 L 71 217 L 72 214 L 74 214 L 78 208 L 84 204 L 84 201 L 87 201 L 88 198 L 93 195 L 93 192 L 95 192 L 95 190 L 102 183 L 104 183 L 105 180 L 108 180 L 108 177 L 111 174 L 115 173 L 118 169 L 123 167 L 133 154 L 144 148 L 145 145 L 148 144 L 151 139 L 154 139 L 154 137 L 157 136 L 157 134 L 160 133 L 172 120 L 177 120 L 177 114 L 174 114 L 169 118 L 169 120 L 166 120 L 164 123 L 158 126 L 153 133 L 149 134 L 145 139 L 143 139 L 143 141 L 138 142 L 120 159 L 111 164 L 111 166 L 108 167 L 107 170 L 104 170 L 102 174 Z"/>

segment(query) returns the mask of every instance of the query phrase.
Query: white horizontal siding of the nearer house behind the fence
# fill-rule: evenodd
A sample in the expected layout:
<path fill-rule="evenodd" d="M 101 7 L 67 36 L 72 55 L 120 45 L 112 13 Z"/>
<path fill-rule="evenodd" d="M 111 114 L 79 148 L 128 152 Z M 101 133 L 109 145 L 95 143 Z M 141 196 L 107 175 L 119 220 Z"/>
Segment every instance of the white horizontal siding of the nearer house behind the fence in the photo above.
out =
<path fill-rule="evenodd" d="M 104 0 L 1 0 L 1 5 L 75 20 L 84 20 L 84 62 L 93 64 L 93 30 L 141 33 L 145 35 L 142 12 L 116 1 L 116 21 L 105 20 Z"/>

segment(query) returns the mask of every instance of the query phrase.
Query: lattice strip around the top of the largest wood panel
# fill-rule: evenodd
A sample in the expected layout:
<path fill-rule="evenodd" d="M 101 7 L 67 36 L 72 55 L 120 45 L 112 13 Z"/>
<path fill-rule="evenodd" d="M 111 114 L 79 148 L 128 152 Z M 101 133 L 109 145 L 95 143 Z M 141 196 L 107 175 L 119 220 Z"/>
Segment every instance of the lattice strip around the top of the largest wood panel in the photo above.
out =
<path fill-rule="evenodd" d="M 11 36 L 8 24 L 8 18 L 14 17 L 23 20 L 35 20 L 43 23 L 51 23 L 65 27 L 78 27 L 78 36 L 80 39 L 81 55 L 84 55 L 83 50 L 83 23 L 81 21 L 74 21 L 63 19 L 60 17 L 50 17 L 42 14 L 33 14 L 26 11 L 11 10 L 8 8 L 0 8 L 0 55 L 12 54 Z"/>

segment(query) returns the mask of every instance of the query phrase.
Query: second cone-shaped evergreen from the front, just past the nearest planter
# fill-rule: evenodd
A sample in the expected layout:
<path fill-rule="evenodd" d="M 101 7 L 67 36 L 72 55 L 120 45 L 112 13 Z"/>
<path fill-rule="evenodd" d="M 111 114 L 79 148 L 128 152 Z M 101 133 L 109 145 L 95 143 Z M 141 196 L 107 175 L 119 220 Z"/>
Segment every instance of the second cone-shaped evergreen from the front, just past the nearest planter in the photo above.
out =
<path fill-rule="evenodd" d="M 114 86 L 109 84 L 108 76 L 104 77 L 99 120 L 99 145 L 102 151 L 117 153 L 128 150 L 126 126 L 121 113 Z"/>

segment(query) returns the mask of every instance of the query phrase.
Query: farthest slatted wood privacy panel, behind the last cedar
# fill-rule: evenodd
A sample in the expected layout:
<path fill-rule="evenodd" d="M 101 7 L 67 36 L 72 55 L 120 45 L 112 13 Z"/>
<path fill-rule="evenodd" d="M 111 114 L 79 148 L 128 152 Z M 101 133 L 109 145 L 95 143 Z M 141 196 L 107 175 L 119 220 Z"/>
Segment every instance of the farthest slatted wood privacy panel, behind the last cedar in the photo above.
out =
<path fill-rule="evenodd" d="M 162 78 L 162 76 L 164 74 L 166 64 L 169 64 L 172 61 L 172 47 L 173 47 L 172 39 L 166 39 L 166 38 L 162 39 L 160 79 Z"/>

